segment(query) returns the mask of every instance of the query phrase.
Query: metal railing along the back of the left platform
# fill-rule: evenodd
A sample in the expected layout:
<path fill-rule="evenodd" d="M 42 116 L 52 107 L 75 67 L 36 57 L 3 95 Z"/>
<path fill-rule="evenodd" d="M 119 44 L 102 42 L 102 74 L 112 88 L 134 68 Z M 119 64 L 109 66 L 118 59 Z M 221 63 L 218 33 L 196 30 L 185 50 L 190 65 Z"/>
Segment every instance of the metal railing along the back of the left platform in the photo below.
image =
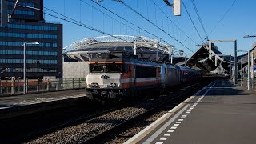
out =
<path fill-rule="evenodd" d="M 64 78 L 43 81 L 40 79 L 26 79 L 26 94 L 44 91 L 72 90 L 86 88 L 86 78 Z M 0 95 L 13 95 L 24 93 L 22 79 L 1 80 Z"/>

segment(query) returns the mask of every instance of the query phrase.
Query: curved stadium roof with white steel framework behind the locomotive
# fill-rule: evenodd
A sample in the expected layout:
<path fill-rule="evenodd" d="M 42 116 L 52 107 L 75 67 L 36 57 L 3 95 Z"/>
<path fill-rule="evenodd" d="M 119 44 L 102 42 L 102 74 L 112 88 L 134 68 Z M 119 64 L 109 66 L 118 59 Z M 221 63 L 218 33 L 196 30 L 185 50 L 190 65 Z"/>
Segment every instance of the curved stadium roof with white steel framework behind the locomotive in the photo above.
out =
<path fill-rule="evenodd" d="M 136 54 L 139 58 L 159 61 L 170 61 L 170 57 L 180 56 L 182 51 L 177 50 L 173 45 L 167 45 L 156 39 L 143 36 L 114 35 L 95 38 L 85 38 L 73 42 L 63 48 L 65 54 L 77 59 L 79 62 L 88 61 L 91 54 L 110 53 L 111 51 L 124 51 L 129 54 Z"/>

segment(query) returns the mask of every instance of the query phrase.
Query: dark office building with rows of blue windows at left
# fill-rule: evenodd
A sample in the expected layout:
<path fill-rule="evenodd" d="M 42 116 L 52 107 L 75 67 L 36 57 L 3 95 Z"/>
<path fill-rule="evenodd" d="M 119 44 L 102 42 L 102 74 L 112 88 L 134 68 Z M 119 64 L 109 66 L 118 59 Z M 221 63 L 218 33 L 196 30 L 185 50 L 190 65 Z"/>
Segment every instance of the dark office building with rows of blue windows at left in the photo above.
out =
<path fill-rule="evenodd" d="M 15 2 L 1 0 L 1 13 L 11 14 Z M 23 45 L 31 42 L 39 44 L 26 44 L 26 78 L 62 78 L 62 24 L 45 22 L 43 0 L 19 0 L 18 5 L 9 22 L 0 26 L 1 79 L 23 77 Z"/>

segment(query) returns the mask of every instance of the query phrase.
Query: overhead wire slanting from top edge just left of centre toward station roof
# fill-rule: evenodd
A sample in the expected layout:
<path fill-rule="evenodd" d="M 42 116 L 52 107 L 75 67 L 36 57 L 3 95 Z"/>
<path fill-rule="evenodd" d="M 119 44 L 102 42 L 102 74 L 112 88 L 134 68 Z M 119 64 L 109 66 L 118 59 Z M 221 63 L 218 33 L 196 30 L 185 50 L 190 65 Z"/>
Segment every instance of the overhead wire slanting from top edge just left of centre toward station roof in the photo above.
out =
<path fill-rule="evenodd" d="M 157 24 L 154 24 L 154 22 L 151 22 L 150 19 L 147 19 L 145 16 L 143 16 L 141 13 L 139 13 L 138 11 L 134 10 L 132 7 L 130 7 L 129 5 L 126 4 L 126 2 L 123 2 L 121 0 L 116 0 L 117 2 L 122 3 L 122 5 L 126 6 L 127 8 L 129 8 L 130 10 L 134 11 L 135 14 L 138 14 L 139 16 L 141 16 L 142 18 L 144 18 L 147 22 L 150 22 L 153 26 L 157 27 L 159 30 L 161 30 L 163 33 L 167 34 L 170 38 L 173 38 L 176 42 L 180 43 L 182 46 L 184 46 L 187 50 L 190 50 L 192 53 L 194 53 L 193 50 L 191 50 L 189 47 L 185 46 L 182 42 L 178 41 L 177 38 L 174 38 L 174 36 L 166 33 L 165 30 L 162 30 L 162 28 L 160 28 Z"/>

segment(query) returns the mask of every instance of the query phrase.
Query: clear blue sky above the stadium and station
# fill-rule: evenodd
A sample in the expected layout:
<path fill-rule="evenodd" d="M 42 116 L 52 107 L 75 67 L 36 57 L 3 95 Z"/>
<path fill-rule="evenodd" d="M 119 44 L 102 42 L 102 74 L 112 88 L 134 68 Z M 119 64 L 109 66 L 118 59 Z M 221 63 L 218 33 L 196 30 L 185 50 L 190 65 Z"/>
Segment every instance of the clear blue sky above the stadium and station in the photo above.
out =
<path fill-rule="evenodd" d="M 94 38 L 106 34 L 132 35 L 154 38 L 174 45 L 176 49 L 184 50 L 191 56 L 200 48 L 198 45 L 207 42 L 206 34 L 210 40 L 237 39 L 238 50 L 250 50 L 253 43 L 256 42 L 256 38 L 243 38 L 245 35 L 256 34 L 255 0 L 194 0 L 206 34 L 198 20 L 192 0 L 182 1 L 184 5 L 182 4 L 181 7 L 181 16 L 174 16 L 173 9 L 166 6 L 163 0 L 123 0 L 126 5 L 113 0 L 103 0 L 98 2 L 102 6 L 92 1 L 44 0 L 46 22 L 63 24 L 64 47 L 84 38 Z M 172 3 L 172 0 L 169 2 Z M 234 5 L 231 6 L 233 2 Z M 118 14 L 121 18 L 103 7 Z M 230 10 L 226 13 L 229 8 Z M 223 17 L 225 13 L 226 15 Z M 106 34 L 63 20 L 69 18 Z M 234 55 L 234 42 L 214 44 L 223 54 Z"/>

